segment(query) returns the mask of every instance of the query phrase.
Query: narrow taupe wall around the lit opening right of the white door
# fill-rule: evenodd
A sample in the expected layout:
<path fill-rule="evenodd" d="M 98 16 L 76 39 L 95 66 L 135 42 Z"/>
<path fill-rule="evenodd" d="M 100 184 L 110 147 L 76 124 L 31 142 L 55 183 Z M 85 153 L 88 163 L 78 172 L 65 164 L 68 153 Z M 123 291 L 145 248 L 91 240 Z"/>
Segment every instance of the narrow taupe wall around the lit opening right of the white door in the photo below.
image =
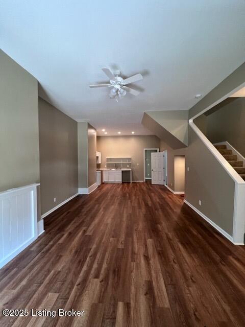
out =
<path fill-rule="evenodd" d="M 185 155 L 187 148 L 182 149 L 172 149 L 166 144 L 162 139 L 160 143 L 160 151 L 163 152 L 167 150 L 167 186 L 175 191 L 175 192 L 184 192 L 185 189 L 182 190 L 179 188 L 179 183 L 175 185 L 175 156 L 176 155 Z"/>

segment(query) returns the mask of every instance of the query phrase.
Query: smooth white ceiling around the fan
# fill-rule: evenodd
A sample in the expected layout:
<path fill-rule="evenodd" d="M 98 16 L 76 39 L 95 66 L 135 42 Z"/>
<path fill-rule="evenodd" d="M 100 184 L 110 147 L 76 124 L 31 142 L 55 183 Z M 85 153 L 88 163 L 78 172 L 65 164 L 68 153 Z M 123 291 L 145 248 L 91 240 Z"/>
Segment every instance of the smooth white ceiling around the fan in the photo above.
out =
<path fill-rule="evenodd" d="M 152 134 L 144 111 L 189 109 L 245 61 L 244 0 L 8 0 L 1 48 L 33 74 L 40 95 L 102 135 Z M 116 103 L 102 67 L 141 73 L 143 92 Z"/>

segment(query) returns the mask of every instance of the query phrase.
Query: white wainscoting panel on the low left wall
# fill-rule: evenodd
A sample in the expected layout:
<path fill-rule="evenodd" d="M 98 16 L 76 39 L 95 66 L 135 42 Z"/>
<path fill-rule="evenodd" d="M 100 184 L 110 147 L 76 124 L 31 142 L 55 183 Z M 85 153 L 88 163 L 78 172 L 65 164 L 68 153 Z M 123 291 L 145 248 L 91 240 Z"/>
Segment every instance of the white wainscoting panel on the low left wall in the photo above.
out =
<path fill-rule="evenodd" d="M 37 238 L 37 185 L 0 192 L 0 268 Z"/>

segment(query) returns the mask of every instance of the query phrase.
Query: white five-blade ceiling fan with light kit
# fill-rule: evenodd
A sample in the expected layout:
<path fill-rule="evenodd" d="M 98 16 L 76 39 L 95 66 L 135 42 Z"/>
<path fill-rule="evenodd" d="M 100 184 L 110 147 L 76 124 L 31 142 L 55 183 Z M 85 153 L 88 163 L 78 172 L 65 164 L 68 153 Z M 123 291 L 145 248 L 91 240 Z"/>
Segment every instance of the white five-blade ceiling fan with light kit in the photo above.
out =
<path fill-rule="evenodd" d="M 110 68 L 102 68 L 103 72 L 109 77 L 110 84 L 95 84 L 89 85 L 89 87 L 110 87 L 110 94 L 109 97 L 111 99 L 115 99 L 118 102 L 118 99 L 124 97 L 127 92 L 130 94 L 137 96 L 140 94 L 139 91 L 134 90 L 131 87 L 126 86 L 129 83 L 134 83 L 143 79 L 141 74 L 136 74 L 131 77 L 126 78 L 125 80 L 122 79 L 120 75 L 120 71 L 115 71 L 114 74 L 112 73 Z"/>

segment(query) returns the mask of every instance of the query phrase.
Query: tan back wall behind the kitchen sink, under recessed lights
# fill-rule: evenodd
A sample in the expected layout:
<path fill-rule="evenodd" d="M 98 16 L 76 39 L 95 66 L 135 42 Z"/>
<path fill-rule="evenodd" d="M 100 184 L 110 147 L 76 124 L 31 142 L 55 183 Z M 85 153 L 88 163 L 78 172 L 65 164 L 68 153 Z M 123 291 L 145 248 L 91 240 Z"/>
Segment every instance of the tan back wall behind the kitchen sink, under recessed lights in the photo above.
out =
<path fill-rule="evenodd" d="M 144 148 L 160 148 L 160 139 L 155 135 L 97 136 L 101 168 L 105 168 L 106 157 L 131 157 L 133 181 L 144 180 Z"/>

